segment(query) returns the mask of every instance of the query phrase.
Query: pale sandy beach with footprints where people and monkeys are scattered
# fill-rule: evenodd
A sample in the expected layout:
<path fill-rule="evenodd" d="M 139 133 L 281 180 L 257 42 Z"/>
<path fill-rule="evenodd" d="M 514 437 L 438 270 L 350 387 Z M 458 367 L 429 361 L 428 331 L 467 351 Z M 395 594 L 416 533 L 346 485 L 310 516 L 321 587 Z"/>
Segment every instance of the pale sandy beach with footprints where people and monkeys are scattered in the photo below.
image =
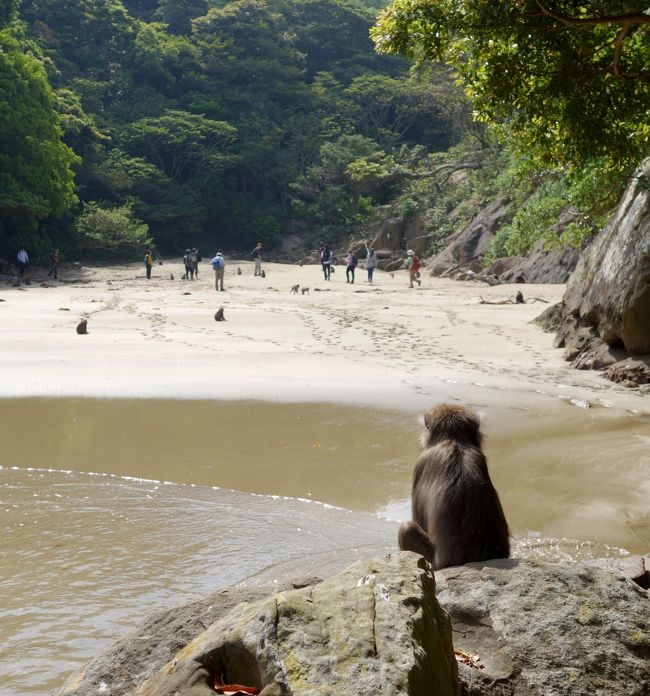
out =
<path fill-rule="evenodd" d="M 237 274 L 237 268 L 242 271 Z M 0 290 L 0 397 L 262 399 L 418 410 L 460 399 L 526 408 L 557 400 L 646 413 L 643 395 L 578 372 L 531 324 L 561 285 L 501 285 L 405 271 L 346 283 L 338 267 L 228 260 L 225 291 L 208 263 L 182 280 L 180 261 L 32 270 L 30 285 Z M 172 275 L 174 279 L 172 280 Z M 308 294 L 293 294 L 299 284 Z M 527 303 L 481 304 L 513 299 Z M 532 301 L 541 298 L 541 301 Z M 547 304 L 549 303 L 549 304 Z M 226 321 L 214 321 L 223 307 Z M 88 319 L 88 335 L 75 327 Z M 548 406 L 548 404 L 547 404 Z"/>

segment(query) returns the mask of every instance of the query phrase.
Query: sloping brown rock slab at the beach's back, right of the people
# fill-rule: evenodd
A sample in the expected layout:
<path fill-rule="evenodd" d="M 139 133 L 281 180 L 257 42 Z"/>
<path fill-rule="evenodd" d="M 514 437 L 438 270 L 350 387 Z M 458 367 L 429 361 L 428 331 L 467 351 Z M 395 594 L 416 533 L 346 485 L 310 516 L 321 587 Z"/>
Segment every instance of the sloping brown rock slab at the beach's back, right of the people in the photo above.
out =
<path fill-rule="evenodd" d="M 483 255 L 493 234 L 511 216 L 507 198 L 498 198 L 485 207 L 460 232 L 453 234 L 447 247 L 427 263 L 432 275 L 441 275 L 454 266 L 478 272 L 483 267 Z"/>

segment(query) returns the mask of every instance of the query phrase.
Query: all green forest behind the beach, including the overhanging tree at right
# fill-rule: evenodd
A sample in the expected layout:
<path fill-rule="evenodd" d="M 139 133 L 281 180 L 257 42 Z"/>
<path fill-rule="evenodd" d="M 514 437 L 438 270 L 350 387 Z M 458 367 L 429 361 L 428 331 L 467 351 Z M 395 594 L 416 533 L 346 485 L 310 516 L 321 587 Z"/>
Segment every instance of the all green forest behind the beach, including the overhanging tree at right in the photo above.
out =
<path fill-rule="evenodd" d="M 647 25 L 523 50 L 528 17 L 459 31 L 457 6 L 503 4 L 385 4 L 0 0 L 0 257 L 309 249 L 394 215 L 421 218 L 435 248 L 498 193 L 518 212 L 495 256 L 530 248 L 568 204 L 566 239 L 588 236 L 647 152 Z M 589 47 L 614 34 L 634 79 L 594 69 L 612 57 Z M 544 71 L 571 80 L 531 80 Z"/>

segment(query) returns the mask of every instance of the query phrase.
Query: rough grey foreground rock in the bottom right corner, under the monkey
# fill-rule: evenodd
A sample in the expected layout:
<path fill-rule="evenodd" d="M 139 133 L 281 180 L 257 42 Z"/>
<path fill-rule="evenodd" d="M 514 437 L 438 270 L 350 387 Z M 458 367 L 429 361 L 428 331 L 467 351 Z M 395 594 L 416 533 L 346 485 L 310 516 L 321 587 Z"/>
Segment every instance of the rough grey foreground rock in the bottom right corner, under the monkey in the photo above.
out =
<path fill-rule="evenodd" d="M 649 595 L 581 565 L 498 560 L 436 573 L 471 696 L 647 696 Z"/>

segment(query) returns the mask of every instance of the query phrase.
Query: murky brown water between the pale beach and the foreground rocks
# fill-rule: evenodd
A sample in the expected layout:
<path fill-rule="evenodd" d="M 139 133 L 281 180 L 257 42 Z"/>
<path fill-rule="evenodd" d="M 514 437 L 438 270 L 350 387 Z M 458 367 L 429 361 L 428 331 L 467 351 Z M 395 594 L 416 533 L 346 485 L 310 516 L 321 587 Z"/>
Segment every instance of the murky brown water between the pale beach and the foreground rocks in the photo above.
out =
<path fill-rule="evenodd" d="M 485 411 L 516 554 L 647 552 L 647 416 Z M 331 405 L 0 401 L 0 694 L 51 693 L 154 607 L 393 545 L 418 431 Z"/>

